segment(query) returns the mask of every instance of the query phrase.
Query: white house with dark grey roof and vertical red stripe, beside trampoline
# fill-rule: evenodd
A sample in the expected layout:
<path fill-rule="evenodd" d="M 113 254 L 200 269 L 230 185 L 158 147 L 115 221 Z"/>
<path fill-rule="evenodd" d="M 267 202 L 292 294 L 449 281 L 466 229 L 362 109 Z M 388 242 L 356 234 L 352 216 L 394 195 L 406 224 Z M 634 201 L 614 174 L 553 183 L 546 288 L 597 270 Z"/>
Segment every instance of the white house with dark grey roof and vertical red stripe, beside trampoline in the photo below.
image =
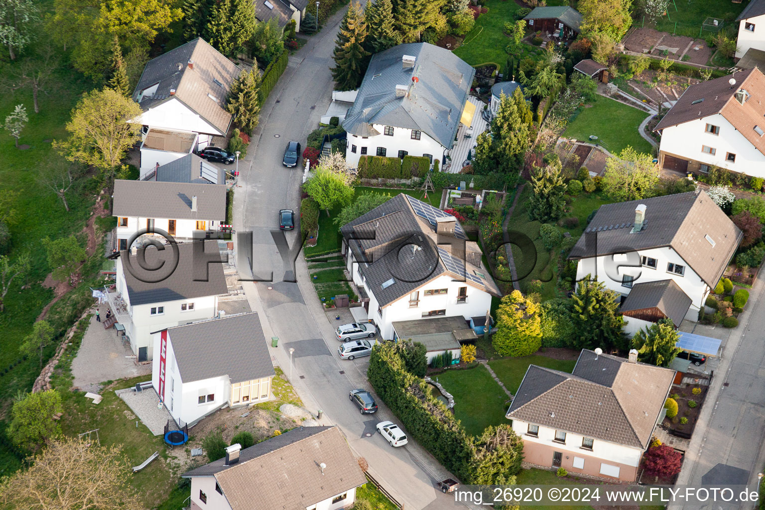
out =
<path fill-rule="evenodd" d="M 275 372 L 256 312 L 167 328 L 154 334 L 154 352 L 151 383 L 179 424 L 273 397 Z"/>

